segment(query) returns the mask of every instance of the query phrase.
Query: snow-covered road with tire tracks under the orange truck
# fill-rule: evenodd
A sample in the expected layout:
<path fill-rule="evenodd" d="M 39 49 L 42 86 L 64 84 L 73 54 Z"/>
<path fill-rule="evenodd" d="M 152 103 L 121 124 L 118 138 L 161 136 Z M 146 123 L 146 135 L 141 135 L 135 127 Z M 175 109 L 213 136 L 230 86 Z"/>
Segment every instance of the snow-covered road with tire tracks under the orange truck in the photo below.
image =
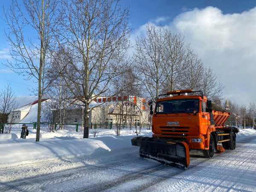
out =
<path fill-rule="evenodd" d="M 256 135 L 184 171 L 141 158 L 138 147 L 0 165 L 0 191 L 256 191 Z"/>

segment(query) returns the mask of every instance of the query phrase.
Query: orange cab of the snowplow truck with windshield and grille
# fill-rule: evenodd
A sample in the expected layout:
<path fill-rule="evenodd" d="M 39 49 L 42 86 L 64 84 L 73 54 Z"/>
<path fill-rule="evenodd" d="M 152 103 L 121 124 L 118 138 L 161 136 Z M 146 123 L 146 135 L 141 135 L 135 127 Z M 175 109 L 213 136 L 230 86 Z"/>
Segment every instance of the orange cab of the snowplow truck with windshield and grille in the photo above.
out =
<path fill-rule="evenodd" d="M 169 95 L 156 102 L 152 116 L 152 136 L 186 140 L 191 149 L 205 149 L 205 136 L 211 125 L 207 98 Z"/>

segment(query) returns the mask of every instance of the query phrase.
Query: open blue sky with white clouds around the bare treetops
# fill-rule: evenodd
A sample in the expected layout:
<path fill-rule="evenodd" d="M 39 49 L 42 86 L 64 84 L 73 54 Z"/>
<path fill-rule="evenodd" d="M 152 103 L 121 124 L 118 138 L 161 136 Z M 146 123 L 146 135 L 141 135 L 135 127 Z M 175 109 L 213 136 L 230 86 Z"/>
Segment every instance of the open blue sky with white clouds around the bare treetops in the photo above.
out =
<path fill-rule="evenodd" d="M 21 0 L 20 0 L 21 1 Z M 148 22 L 161 24 L 184 35 L 185 41 L 212 67 L 223 83 L 224 97 L 239 104 L 256 102 L 256 1 L 255 0 L 121 0 L 131 11 L 131 41 L 145 33 Z M 9 1 L 1 1 L 8 7 Z M 6 63 L 9 46 L 4 37 L 5 22 L 0 20 L 0 62 Z M 11 84 L 20 105 L 36 100 L 29 89 L 32 80 L 12 73 L 0 65 L 0 90 Z"/>

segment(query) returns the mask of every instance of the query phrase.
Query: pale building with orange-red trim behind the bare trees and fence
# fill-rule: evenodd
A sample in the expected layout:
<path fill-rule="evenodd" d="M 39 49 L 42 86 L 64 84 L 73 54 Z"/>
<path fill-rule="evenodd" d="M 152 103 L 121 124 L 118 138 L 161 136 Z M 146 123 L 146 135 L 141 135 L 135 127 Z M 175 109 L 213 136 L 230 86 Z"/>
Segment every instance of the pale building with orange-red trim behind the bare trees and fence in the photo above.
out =
<path fill-rule="evenodd" d="M 73 105 L 80 104 L 79 99 Z M 93 108 L 99 105 L 99 107 Z M 140 126 L 148 124 L 148 111 L 145 111 L 145 99 L 135 96 L 101 97 L 94 99 L 89 108 L 89 124 L 125 124 Z M 68 124 L 83 121 L 82 109 L 71 109 L 66 122 Z"/>

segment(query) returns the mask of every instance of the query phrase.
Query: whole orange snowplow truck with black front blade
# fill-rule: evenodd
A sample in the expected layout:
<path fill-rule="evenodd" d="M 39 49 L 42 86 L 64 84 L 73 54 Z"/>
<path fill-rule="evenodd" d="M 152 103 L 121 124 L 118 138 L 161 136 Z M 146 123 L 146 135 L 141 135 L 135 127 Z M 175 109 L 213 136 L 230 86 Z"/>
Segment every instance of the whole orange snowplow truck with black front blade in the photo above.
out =
<path fill-rule="evenodd" d="M 152 137 L 134 137 L 140 156 L 187 170 L 189 151 L 202 150 L 212 158 L 217 145 L 236 148 L 238 128 L 224 125 L 230 113 L 218 107 L 202 91 L 179 90 L 159 95 L 152 115 Z"/>

